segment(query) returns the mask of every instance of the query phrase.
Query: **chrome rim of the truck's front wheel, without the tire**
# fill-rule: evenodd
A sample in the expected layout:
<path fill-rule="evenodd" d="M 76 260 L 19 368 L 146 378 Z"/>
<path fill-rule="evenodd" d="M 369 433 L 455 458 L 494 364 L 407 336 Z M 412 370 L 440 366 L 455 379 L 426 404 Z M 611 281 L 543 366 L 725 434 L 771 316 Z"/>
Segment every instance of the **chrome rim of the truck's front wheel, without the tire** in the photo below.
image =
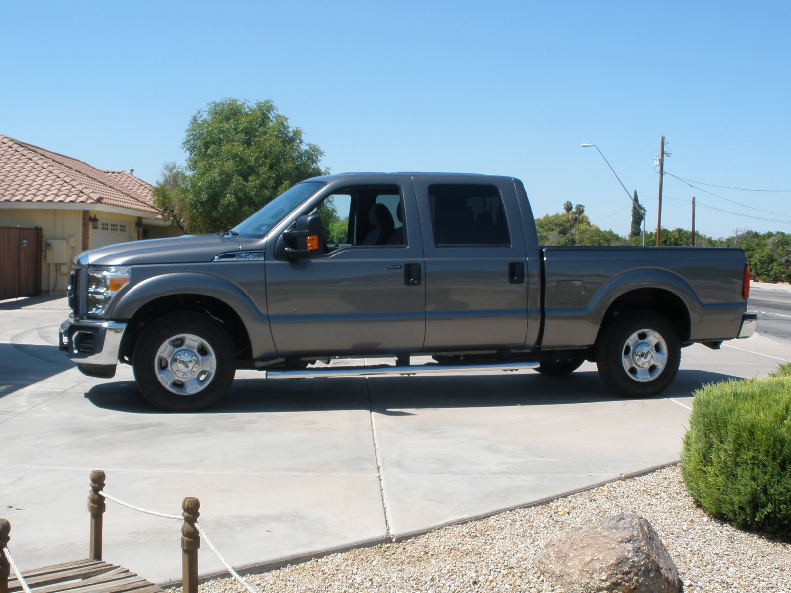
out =
<path fill-rule="evenodd" d="M 162 387 L 176 395 L 194 395 L 211 383 L 217 357 L 200 336 L 176 334 L 162 342 L 153 365 Z"/>

